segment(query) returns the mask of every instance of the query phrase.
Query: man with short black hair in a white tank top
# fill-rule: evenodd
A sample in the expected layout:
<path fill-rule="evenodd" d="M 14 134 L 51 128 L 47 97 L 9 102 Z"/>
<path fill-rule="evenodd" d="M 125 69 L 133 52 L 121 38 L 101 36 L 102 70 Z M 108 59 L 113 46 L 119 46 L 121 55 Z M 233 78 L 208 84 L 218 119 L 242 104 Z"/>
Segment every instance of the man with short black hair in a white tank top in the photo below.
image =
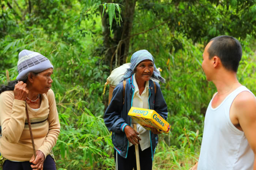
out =
<path fill-rule="evenodd" d="M 241 44 L 230 36 L 215 37 L 204 49 L 202 68 L 217 92 L 192 170 L 256 170 L 256 98 L 237 80 L 241 57 Z"/>

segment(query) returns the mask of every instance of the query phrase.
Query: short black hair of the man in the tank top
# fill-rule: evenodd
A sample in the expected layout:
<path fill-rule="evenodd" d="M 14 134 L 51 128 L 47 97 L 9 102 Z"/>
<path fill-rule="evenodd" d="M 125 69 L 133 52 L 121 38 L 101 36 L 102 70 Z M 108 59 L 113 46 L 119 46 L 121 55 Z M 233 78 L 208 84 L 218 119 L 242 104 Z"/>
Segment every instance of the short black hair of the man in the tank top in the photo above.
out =
<path fill-rule="evenodd" d="M 237 72 L 239 62 L 242 58 L 242 46 L 240 42 L 231 36 L 222 35 L 212 38 L 211 46 L 208 48 L 209 59 L 217 56 L 227 70 Z"/>

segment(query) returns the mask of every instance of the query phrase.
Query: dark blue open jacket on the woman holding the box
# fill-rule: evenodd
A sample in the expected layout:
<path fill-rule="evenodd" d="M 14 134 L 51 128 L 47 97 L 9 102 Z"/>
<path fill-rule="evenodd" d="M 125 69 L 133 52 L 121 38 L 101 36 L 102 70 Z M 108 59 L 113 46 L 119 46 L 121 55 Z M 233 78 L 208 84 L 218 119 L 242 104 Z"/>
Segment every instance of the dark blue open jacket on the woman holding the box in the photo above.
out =
<path fill-rule="evenodd" d="M 152 80 L 149 81 L 149 97 L 148 105 L 150 109 L 154 109 L 165 120 L 167 119 L 167 104 L 163 98 L 160 85 L 156 82 L 155 87 Z M 119 83 L 114 91 L 110 105 L 104 114 L 104 122 L 109 131 L 112 131 L 112 142 L 117 153 L 126 158 L 128 153 L 129 141 L 124 132 L 125 126 L 131 124 L 131 117 L 128 112 L 131 108 L 131 103 L 134 95 L 134 85 L 132 77 L 126 79 L 125 97 L 123 99 L 124 86 L 123 82 Z M 123 104 L 124 103 L 124 104 Z M 158 143 L 158 135 L 150 131 L 150 145 L 152 160 L 155 153 L 155 148 Z"/>

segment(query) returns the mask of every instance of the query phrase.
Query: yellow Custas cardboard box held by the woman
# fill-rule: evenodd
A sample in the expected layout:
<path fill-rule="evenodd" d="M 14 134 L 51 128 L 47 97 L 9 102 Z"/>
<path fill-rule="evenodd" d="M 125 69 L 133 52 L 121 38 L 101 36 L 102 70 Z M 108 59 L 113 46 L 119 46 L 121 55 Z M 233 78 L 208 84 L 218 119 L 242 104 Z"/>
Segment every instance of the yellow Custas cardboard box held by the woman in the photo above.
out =
<path fill-rule="evenodd" d="M 131 107 L 128 115 L 146 130 L 156 128 L 159 132 L 169 133 L 171 125 L 154 110 Z"/>

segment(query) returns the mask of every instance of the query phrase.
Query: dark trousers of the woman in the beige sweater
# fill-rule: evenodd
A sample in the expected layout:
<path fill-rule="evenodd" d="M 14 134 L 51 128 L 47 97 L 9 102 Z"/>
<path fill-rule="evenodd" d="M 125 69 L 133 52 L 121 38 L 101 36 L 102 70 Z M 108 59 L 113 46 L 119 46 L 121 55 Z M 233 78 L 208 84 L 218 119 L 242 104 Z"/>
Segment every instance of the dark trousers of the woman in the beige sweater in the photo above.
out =
<path fill-rule="evenodd" d="M 24 162 L 13 162 L 11 160 L 6 160 L 3 164 L 3 170 L 32 170 L 32 163 L 29 161 Z M 56 170 L 56 165 L 53 158 L 47 155 L 44 160 L 44 170 Z"/>

